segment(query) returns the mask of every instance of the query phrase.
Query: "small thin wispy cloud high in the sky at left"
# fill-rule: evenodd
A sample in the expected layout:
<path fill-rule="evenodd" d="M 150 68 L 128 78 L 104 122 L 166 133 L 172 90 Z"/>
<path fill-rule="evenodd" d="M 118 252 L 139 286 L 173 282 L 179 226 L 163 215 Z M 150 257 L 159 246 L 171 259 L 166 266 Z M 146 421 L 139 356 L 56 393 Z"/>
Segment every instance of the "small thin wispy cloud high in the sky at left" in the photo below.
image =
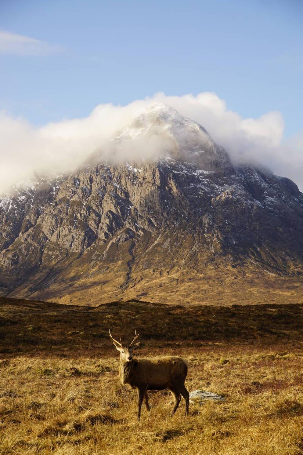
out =
<path fill-rule="evenodd" d="M 17 35 L 0 30 L 0 53 L 17 56 L 45 56 L 61 52 L 62 47 L 50 45 L 45 41 L 35 40 L 29 36 Z"/>

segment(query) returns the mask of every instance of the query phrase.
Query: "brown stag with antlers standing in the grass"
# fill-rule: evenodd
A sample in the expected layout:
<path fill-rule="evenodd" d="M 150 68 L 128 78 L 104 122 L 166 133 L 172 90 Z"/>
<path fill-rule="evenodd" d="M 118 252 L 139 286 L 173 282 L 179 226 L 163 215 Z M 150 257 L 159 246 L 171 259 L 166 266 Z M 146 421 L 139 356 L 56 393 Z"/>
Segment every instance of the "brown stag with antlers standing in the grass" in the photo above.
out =
<path fill-rule="evenodd" d="M 147 390 L 169 389 L 174 398 L 174 415 L 181 401 L 181 395 L 185 399 L 185 415 L 188 415 L 189 393 L 184 385 L 187 376 L 188 363 L 181 357 L 170 355 L 167 357 L 154 357 L 152 359 L 135 359 L 133 349 L 139 346 L 140 342 L 135 343 L 139 335 L 135 330 L 135 337 L 131 344 L 122 344 L 111 336 L 116 349 L 120 351 L 119 376 L 123 385 L 129 384 L 132 389 L 138 392 L 138 420 L 141 418 L 141 406 L 143 399 L 147 411 L 150 410 L 148 404 Z"/>

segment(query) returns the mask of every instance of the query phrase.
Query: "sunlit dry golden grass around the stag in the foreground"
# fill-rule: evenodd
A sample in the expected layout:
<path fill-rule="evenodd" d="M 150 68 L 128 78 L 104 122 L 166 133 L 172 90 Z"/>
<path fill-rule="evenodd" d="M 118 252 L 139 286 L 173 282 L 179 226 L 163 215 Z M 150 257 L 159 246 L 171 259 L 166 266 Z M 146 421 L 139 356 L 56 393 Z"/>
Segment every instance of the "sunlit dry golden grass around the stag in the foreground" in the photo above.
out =
<path fill-rule="evenodd" d="M 151 413 L 143 408 L 140 423 L 136 392 L 117 379 L 117 357 L 2 362 L 0 453 L 303 453 L 300 352 L 215 345 L 180 354 L 190 362 L 187 389 L 217 392 L 225 402 L 191 404 L 188 418 L 182 403 L 170 418 L 171 396 L 151 393 Z"/>

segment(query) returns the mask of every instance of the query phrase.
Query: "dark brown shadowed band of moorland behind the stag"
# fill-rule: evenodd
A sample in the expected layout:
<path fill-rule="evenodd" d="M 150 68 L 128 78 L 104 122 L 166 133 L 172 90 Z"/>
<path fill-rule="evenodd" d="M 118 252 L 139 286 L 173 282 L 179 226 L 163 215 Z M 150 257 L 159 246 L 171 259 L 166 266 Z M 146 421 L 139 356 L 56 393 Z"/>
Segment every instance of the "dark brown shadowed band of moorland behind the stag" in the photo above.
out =
<path fill-rule="evenodd" d="M 112 347 L 109 328 L 125 342 L 136 329 L 143 349 L 178 343 L 298 343 L 302 319 L 302 304 L 182 307 L 132 300 L 93 308 L 0 298 L 0 355 L 97 356 Z"/>

